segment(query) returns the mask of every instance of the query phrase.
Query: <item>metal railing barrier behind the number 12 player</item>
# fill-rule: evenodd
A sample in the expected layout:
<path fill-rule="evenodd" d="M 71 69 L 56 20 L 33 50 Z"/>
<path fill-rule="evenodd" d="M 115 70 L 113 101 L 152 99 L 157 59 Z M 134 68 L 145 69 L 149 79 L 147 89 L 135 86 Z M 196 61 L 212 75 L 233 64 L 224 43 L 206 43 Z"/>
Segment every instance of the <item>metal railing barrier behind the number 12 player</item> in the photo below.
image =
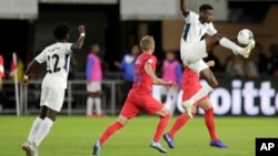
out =
<path fill-rule="evenodd" d="M 41 91 L 41 80 L 30 80 L 27 86 L 20 86 L 20 112 L 23 115 L 39 113 L 39 98 Z M 102 107 L 105 107 L 103 113 L 116 114 L 116 87 L 117 85 L 123 84 L 121 80 L 105 80 L 102 81 Z M 14 87 L 13 81 L 6 80 L 3 81 L 3 92 L 9 93 L 7 97 L 7 102 L 12 104 L 14 101 Z M 105 87 L 103 87 L 105 86 Z M 12 95 L 13 94 L 13 95 Z M 86 112 L 86 100 L 87 100 L 87 90 L 86 90 L 86 81 L 85 80 L 69 80 L 68 81 L 68 90 L 66 91 L 66 97 L 63 107 L 61 113 L 66 113 L 68 115 Z M 109 94 L 110 96 L 107 96 Z M 30 101 L 34 101 L 34 106 L 30 106 Z M 73 102 L 79 108 L 73 108 Z M 16 105 L 16 101 L 14 101 Z M 83 107 L 80 107 L 82 105 Z M 12 107 L 12 106 L 11 106 Z M 0 114 L 13 114 L 16 113 L 14 108 L 2 108 L 0 110 Z"/>

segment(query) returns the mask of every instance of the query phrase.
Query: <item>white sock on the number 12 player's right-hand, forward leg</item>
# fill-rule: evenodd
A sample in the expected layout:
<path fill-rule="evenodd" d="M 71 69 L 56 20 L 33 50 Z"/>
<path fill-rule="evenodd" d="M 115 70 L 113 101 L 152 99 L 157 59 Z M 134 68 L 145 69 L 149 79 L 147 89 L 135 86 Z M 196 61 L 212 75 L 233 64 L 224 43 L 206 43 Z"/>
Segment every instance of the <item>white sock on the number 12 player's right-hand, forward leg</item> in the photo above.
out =
<path fill-rule="evenodd" d="M 42 142 L 42 139 L 48 135 L 48 133 L 50 132 L 51 126 L 53 125 L 53 121 L 51 121 L 50 118 L 46 117 L 42 122 L 41 125 L 38 129 L 38 133 L 34 137 L 34 145 L 37 147 L 39 147 L 40 143 Z"/>

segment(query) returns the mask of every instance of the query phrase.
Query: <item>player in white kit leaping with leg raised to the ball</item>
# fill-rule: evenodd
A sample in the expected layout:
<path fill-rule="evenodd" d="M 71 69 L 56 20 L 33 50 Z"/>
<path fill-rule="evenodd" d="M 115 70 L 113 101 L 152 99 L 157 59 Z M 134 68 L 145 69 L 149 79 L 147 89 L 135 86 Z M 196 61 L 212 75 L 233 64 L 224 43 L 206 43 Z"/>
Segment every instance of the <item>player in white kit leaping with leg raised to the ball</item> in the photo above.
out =
<path fill-rule="evenodd" d="M 197 14 L 187 8 L 186 0 L 180 0 L 180 9 L 186 20 L 183 33 L 180 39 L 182 63 L 197 74 L 200 74 L 200 76 L 208 82 L 208 85 L 203 85 L 188 101 L 182 102 L 182 107 L 187 115 L 192 118 L 191 107 L 193 103 L 218 85 L 218 81 L 202 58 L 206 58 L 208 52 L 217 44 L 230 49 L 235 54 L 248 58 L 255 46 L 255 41 L 252 40 L 246 48 L 241 48 L 222 34 L 219 34 L 212 24 L 214 8 L 210 4 L 200 6 L 200 14 Z M 209 37 L 202 39 L 205 34 Z"/>

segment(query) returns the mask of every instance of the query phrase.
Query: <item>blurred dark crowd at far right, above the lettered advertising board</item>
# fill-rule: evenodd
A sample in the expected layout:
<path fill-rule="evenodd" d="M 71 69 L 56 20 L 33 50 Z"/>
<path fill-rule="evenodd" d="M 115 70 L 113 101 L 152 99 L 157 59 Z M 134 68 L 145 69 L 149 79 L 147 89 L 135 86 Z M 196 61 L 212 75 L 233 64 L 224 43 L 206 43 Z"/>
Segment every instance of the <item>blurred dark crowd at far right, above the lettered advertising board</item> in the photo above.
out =
<path fill-rule="evenodd" d="M 272 43 L 268 52 L 264 52 L 261 44 L 257 43 L 248 60 L 231 56 L 224 69 L 225 71 L 221 72 L 226 72 L 231 77 L 278 77 L 278 45 Z"/>

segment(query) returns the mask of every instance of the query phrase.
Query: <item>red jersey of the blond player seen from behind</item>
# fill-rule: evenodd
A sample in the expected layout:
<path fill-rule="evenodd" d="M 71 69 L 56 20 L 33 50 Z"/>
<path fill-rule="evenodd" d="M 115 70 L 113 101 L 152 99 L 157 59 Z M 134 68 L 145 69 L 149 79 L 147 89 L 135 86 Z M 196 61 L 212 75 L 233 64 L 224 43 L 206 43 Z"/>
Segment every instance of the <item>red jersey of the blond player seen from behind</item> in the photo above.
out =
<path fill-rule="evenodd" d="M 145 65 L 150 64 L 152 70 L 156 71 L 157 58 L 149 53 L 142 53 L 136 59 L 133 72 L 133 86 L 131 93 L 136 94 L 151 94 L 152 79 L 145 71 Z"/>

